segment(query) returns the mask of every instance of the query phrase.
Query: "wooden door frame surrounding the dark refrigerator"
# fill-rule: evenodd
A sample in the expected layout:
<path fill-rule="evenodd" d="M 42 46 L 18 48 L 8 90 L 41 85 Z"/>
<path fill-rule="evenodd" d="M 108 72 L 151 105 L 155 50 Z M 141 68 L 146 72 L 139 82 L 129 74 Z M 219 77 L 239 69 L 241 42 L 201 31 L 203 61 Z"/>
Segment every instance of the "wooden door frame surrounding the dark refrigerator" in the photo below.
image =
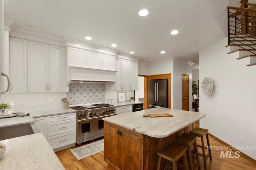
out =
<path fill-rule="evenodd" d="M 149 80 L 168 79 L 168 108 L 171 108 L 171 73 L 157 75 L 138 75 L 144 77 L 144 109 L 149 109 Z"/>

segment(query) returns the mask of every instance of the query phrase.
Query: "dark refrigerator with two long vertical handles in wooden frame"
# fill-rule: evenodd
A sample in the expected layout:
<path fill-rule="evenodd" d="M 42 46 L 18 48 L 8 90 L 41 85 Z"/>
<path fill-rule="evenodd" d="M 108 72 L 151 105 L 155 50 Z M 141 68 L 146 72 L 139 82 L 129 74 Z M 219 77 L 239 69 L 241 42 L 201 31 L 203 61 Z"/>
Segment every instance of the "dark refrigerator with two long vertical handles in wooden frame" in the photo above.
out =
<path fill-rule="evenodd" d="M 168 108 L 168 79 L 149 80 L 149 108 Z"/>

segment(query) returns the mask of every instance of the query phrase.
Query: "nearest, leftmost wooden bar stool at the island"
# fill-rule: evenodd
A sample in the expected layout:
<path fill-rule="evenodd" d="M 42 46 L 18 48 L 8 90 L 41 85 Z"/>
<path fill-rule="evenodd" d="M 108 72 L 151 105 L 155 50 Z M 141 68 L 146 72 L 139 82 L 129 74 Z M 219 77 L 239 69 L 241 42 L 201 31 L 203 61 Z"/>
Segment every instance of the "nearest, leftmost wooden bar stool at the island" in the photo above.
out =
<path fill-rule="evenodd" d="M 183 156 L 184 168 L 185 170 L 188 170 L 186 150 L 187 148 L 182 145 L 179 145 L 177 143 L 171 143 L 163 150 L 160 150 L 159 152 L 157 152 L 157 154 L 159 155 L 157 170 L 160 170 L 161 158 L 164 158 L 170 161 L 168 165 L 169 170 L 171 167 L 171 162 L 172 162 L 172 169 L 177 170 L 177 160 L 179 160 L 182 156 Z"/>

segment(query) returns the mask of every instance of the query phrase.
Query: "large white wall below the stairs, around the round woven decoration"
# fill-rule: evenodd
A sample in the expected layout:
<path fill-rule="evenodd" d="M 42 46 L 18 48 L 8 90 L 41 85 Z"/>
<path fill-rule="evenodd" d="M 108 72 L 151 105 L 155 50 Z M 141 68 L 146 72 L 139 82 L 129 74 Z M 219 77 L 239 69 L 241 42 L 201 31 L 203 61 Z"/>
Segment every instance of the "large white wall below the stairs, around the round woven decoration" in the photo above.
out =
<path fill-rule="evenodd" d="M 225 38 L 199 53 L 199 80 L 209 77 L 214 83 L 210 96 L 200 90 L 200 112 L 207 114 L 200 127 L 231 146 L 255 147 L 256 75 L 227 54 L 227 42 Z M 256 150 L 240 151 L 256 159 Z"/>

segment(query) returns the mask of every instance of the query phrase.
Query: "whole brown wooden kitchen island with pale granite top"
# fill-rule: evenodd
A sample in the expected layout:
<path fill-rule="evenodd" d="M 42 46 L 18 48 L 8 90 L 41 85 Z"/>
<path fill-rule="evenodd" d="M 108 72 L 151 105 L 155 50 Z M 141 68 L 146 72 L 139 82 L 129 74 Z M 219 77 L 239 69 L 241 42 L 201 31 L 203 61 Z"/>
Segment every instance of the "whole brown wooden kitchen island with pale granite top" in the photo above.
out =
<path fill-rule="evenodd" d="M 170 113 L 173 117 L 143 117 L 156 113 Z M 158 107 L 104 118 L 104 160 L 108 169 L 155 170 L 157 152 L 182 133 L 189 133 L 194 122 L 205 116 Z"/>

